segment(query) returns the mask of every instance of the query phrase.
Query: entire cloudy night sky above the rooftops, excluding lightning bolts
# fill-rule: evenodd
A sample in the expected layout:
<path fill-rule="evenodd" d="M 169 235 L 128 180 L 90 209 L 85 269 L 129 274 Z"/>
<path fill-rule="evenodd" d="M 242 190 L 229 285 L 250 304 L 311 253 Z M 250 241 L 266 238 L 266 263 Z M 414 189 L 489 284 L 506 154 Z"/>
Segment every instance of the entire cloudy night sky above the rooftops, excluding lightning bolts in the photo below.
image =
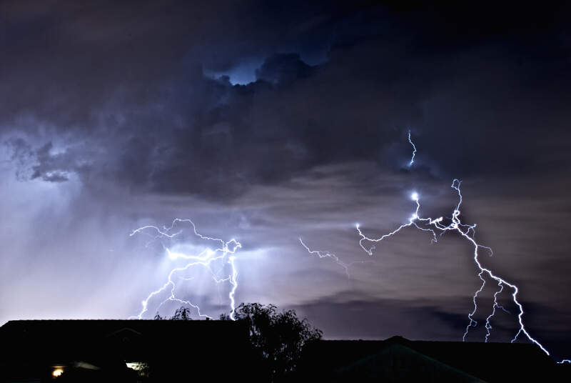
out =
<path fill-rule="evenodd" d="M 241 242 L 237 302 L 295 309 L 327 339 L 461 340 L 470 244 L 407 228 L 369 256 L 355 229 L 408 222 L 413 191 L 423 217 L 450 217 L 458 178 L 482 263 L 570 357 L 571 9 L 522 3 L 2 1 L 0 324 L 137 315 L 176 262 L 130 234 L 185 218 Z M 299 237 L 365 263 L 348 279 Z M 181 296 L 228 312 L 228 286 L 192 277 Z M 490 340 L 509 342 L 517 307 L 500 302 Z"/>

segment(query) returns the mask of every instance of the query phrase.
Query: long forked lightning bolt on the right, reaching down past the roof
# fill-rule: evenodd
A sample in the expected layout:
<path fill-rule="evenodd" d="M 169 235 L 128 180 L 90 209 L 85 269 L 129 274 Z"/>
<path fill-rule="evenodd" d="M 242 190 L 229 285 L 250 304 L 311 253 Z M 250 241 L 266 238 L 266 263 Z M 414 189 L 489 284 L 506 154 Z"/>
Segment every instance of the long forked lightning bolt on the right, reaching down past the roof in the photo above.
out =
<path fill-rule="evenodd" d="M 473 253 L 474 262 L 477 265 L 477 268 L 479 270 L 479 272 L 477 273 L 477 276 L 482 281 L 482 285 L 480 286 L 480 289 L 477 289 L 477 291 L 475 292 L 475 294 L 473 296 L 474 309 L 472 312 L 470 312 L 470 314 L 468 314 L 468 319 L 470 322 L 468 323 L 468 326 L 466 327 L 466 331 L 464 333 L 463 340 L 466 339 L 466 336 L 468 335 L 468 330 L 470 329 L 470 327 L 475 327 L 477 325 L 477 322 L 473 319 L 473 316 L 475 315 L 475 313 L 477 311 L 476 299 L 477 299 L 478 294 L 480 294 L 480 292 L 482 292 L 482 290 L 484 289 L 484 286 L 486 284 L 485 277 L 488 277 L 490 279 L 493 279 L 497 283 L 498 289 L 494 294 L 494 304 L 492 306 L 492 313 L 486 318 L 485 328 L 487 330 L 487 334 L 485 337 L 485 341 L 487 342 L 487 339 L 490 336 L 490 329 L 492 329 L 490 322 L 495 315 L 496 309 L 497 308 L 503 309 L 503 307 L 501 307 L 498 304 L 497 297 L 499 294 L 501 294 L 503 292 L 504 288 L 507 287 L 511 290 L 512 301 L 515 303 L 515 305 L 517 306 L 517 308 L 519 310 L 519 312 L 517 314 L 517 323 L 519 324 L 519 329 L 518 329 L 517 333 L 515 334 L 515 337 L 512 338 L 511 342 L 515 342 L 517 337 L 519 337 L 521 334 L 524 334 L 525 337 L 527 337 L 527 339 L 529 339 L 531 342 L 535 343 L 538 347 L 540 347 L 540 349 L 542 349 L 542 351 L 545 352 L 545 354 L 549 355 L 550 353 L 547 351 L 547 349 L 545 349 L 545 347 L 543 347 L 542 344 L 540 344 L 540 342 L 538 342 L 536 339 L 532 338 L 531 335 L 527 332 L 527 329 L 525 329 L 525 326 L 523 324 L 523 314 L 524 314 L 523 307 L 522 307 L 522 304 L 517 300 L 517 293 L 520 290 L 517 288 L 517 286 L 515 284 L 511 284 L 510 282 L 507 282 L 505 279 L 498 277 L 496 274 L 494 274 L 494 272 L 492 272 L 492 270 L 487 269 L 486 267 L 483 267 L 482 264 L 480 263 L 480 259 L 479 259 L 480 254 L 479 254 L 478 250 L 485 249 L 487 252 L 490 253 L 490 256 L 493 253 L 492 253 L 492 249 L 490 249 L 490 247 L 482 246 L 481 244 L 478 244 L 476 242 L 476 240 L 475 240 L 475 227 L 476 227 L 476 225 L 475 224 L 472 224 L 472 225 L 463 224 L 460 220 L 460 205 L 462 204 L 462 193 L 460 192 L 460 182 L 461 182 L 460 180 L 454 179 L 452 182 L 452 185 L 451 185 L 451 187 L 453 189 L 455 189 L 455 191 L 457 191 L 457 193 L 458 193 L 458 204 L 456 205 L 456 207 L 453 210 L 452 219 L 451 219 L 450 224 L 448 224 L 448 225 L 443 224 L 443 220 L 444 220 L 443 217 L 439 217 L 437 219 L 432 219 L 432 218 L 428 218 L 428 217 L 427 218 L 421 218 L 419 216 L 419 210 L 420 210 L 419 196 L 415 192 L 415 193 L 411 194 L 410 197 L 416 202 L 416 210 L 413 213 L 413 215 L 410 217 L 410 219 L 408 220 L 408 223 L 400 225 L 400 227 L 398 227 L 398 229 L 395 229 L 393 232 L 385 234 L 379 238 L 366 237 L 365 234 L 363 234 L 363 232 L 361 232 L 359 226 L 357 226 L 357 232 L 361 237 L 361 239 L 359 241 L 360 247 L 362 247 L 363 250 L 365 250 L 365 252 L 367 252 L 369 255 L 372 255 L 373 249 L 375 249 L 374 244 L 383 241 L 383 239 L 386 239 L 388 237 L 391 237 L 391 236 L 397 234 L 398 232 L 400 232 L 400 230 L 404 229 L 405 227 L 414 226 L 417 229 L 423 230 L 424 232 L 430 232 L 430 234 L 432 234 L 431 242 L 438 242 L 437 236 L 436 236 L 437 232 L 440 232 L 440 235 L 444 234 L 445 232 L 458 232 L 458 234 L 460 234 L 462 237 L 464 237 L 474 247 L 474 253 Z M 373 243 L 373 245 L 370 247 L 365 247 L 365 245 L 364 245 L 365 242 L 371 242 L 371 243 Z M 564 363 L 564 362 L 569 363 L 570 361 L 565 359 L 559 363 Z"/>

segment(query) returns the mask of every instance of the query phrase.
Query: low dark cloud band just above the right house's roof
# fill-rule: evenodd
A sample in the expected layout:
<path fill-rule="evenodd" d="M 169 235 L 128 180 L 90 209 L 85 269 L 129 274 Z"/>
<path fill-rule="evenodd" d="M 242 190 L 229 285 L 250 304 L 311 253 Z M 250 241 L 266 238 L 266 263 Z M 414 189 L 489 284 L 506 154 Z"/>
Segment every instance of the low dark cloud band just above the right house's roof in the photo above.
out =
<path fill-rule="evenodd" d="M 330 297 L 320 297 L 314 302 L 304 302 L 293 308 L 301 316 L 323 329 L 329 339 L 386 339 L 401 335 L 408 339 L 455 340 L 462 339 L 468 325 L 470 299 L 387 299 L 367 297 L 366 294 L 340 293 Z M 541 333 L 542 343 L 557 354 L 565 354 L 569 337 L 562 335 L 569 314 L 544 304 L 522 302 L 528 312 L 537 313 L 526 319 L 526 327 L 532 333 Z M 509 299 L 506 309 L 514 312 Z M 489 314 L 489 313 L 487 313 Z M 487 314 L 477 318 L 480 326 L 471 328 L 467 340 L 479 342 L 485 338 L 486 329 L 481 324 Z M 334 319 L 334 320 L 332 320 Z M 551 321 L 545 327 L 545 321 Z M 517 333 L 513 317 L 505 312 L 491 319 L 493 331 L 491 342 L 509 342 Z M 395 334 L 395 329 L 399 333 Z M 525 337 L 518 338 L 527 342 Z"/>

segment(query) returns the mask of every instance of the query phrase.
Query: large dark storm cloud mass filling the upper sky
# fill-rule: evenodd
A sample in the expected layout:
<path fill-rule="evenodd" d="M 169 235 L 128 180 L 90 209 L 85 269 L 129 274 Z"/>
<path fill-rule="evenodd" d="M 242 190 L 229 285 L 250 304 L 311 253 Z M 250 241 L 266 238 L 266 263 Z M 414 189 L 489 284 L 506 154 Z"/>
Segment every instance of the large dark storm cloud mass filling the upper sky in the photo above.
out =
<path fill-rule="evenodd" d="M 408 129 L 434 174 L 567 164 L 534 155 L 565 139 L 571 119 L 555 10 L 111 5 L 5 6 L 4 129 L 102 148 L 52 154 L 36 141 L 34 178 L 75 171 L 86 184 L 226 198 L 318 164 L 400 169 L 408 153 L 394 143 Z M 284 50 L 297 52 L 273 53 Z M 303 61 L 312 51 L 325 61 Z M 203 74 L 250 56 L 263 60 L 254 83 Z"/>

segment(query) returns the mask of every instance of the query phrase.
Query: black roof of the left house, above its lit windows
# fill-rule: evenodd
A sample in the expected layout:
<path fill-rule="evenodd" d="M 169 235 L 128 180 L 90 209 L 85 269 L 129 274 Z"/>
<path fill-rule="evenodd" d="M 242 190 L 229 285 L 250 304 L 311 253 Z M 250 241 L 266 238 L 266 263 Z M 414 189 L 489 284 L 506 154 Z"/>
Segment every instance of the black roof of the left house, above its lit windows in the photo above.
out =
<path fill-rule="evenodd" d="M 187 355 L 189 349 L 249 347 L 241 323 L 213 320 L 19 320 L 0 327 L 4 359 L 93 360 L 114 355 L 139 361 Z"/>

